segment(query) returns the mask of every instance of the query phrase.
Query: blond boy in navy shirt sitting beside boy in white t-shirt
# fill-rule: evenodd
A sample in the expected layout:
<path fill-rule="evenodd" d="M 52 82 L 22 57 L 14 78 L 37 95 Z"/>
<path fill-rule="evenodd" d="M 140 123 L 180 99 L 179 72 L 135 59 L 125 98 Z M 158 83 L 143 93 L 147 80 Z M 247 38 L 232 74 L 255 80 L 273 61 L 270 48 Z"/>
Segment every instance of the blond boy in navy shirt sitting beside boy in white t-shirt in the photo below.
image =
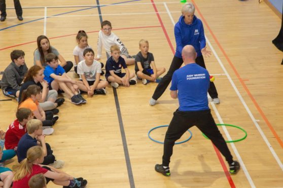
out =
<path fill-rule="evenodd" d="M 119 87 L 119 84 L 123 84 L 125 87 L 136 84 L 136 78 L 134 73 L 130 73 L 127 68 L 125 60 L 120 56 L 120 48 L 118 45 L 112 45 L 110 48 L 111 57 L 106 62 L 105 77 L 107 81 L 111 82 L 111 85 L 115 88 Z M 122 73 L 122 67 L 126 73 Z"/>

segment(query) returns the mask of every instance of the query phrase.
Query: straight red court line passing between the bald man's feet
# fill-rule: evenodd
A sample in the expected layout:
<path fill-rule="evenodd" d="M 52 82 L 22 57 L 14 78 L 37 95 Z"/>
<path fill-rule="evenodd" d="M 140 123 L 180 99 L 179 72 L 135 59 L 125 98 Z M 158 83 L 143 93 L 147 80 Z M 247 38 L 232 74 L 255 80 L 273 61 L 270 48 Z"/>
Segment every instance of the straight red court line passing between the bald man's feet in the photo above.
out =
<path fill-rule="evenodd" d="M 168 41 L 168 44 L 169 44 L 169 46 L 170 46 L 170 48 L 171 48 L 171 51 L 172 51 L 173 54 L 175 54 L 175 50 L 174 50 L 173 45 L 172 45 L 172 43 L 171 43 L 171 40 L 170 40 L 170 38 L 169 38 L 169 36 L 168 36 L 168 34 L 167 34 L 167 31 L 166 31 L 166 29 L 165 29 L 165 27 L 164 27 L 164 24 L 163 24 L 163 22 L 162 22 L 162 20 L 161 20 L 161 17 L 160 17 L 160 15 L 159 15 L 159 13 L 158 13 L 158 10 L 157 10 L 157 8 L 156 8 L 156 6 L 155 6 L 154 0 L 151 0 L 151 3 L 152 3 L 152 6 L 153 6 L 153 8 L 154 8 L 154 11 L 155 11 L 155 13 L 156 13 L 156 15 L 157 15 L 157 18 L 158 18 L 158 20 L 159 20 L 159 23 L 160 23 L 160 25 L 161 25 L 161 27 L 162 27 L 162 30 L 163 30 L 163 32 L 164 32 L 164 34 L 165 34 L 165 37 L 166 37 L 166 39 L 167 39 L 167 41 Z M 211 143 L 211 144 L 212 144 L 212 143 Z M 213 146 L 214 146 L 214 145 L 213 145 Z M 229 173 L 228 170 L 227 170 L 227 167 L 226 167 L 226 165 L 225 165 L 225 162 L 223 161 L 223 158 L 222 158 L 222 156 L 221 156 L 219 150 L 218 150 L 215 146 L 214 146 L 214 150 L 215 150 L 215 152 L 216 152 L 216 154 L 217 154 L 217 157 L 218 157 L 218 159 L 219 159 L 219 161 L 220 161 L 220 163 L 221 163 L 221 166 L 222 166 L 222 168 L 223 168 L 223 170 L 224 170 L 224 173 L 225 173 L 225 175 L 226 175 L 226 178 L 228 179 L 228 182 L 229 182 L 230 186 L 231 186 L 232 188 L 236 187 L 235 184 L 234 184 L 234 182 L 233 182 L 233 179 L 231 178 L 230 173 Z"/>

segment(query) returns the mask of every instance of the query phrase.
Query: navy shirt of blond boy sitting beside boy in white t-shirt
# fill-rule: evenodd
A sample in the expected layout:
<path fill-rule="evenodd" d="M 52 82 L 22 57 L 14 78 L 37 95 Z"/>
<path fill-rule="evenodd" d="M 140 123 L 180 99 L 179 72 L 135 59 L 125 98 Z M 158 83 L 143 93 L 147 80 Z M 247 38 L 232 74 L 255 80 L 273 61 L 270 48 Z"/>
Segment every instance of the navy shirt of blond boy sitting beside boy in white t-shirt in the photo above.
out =
<path fill-rule="evenodd" d="M 106 73 L 105 76 L 109 76 L 110 75 L 110 71 L 114 71 L 115 74 L 121 74 L 122 72 L 122 67 L 124 69 L 127 68 L 126 62 L 124 60 L 124 58 L 122 58 L 121 56 L 118 59 L 118 63 L 113 59 L 113 57 L 111 56 L 107 62 L 106 62 Z"/>

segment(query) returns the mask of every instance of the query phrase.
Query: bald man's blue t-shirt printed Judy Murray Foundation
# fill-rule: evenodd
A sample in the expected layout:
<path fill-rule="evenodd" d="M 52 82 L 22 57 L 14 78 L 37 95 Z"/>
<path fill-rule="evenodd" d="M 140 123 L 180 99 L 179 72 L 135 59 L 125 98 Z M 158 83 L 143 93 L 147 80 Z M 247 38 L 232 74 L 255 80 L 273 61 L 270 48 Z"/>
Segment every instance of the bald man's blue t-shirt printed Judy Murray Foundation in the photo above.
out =
<path fill-rule="evenodd" d="M 193 63 L 173 73 L 170 90 L 178 90 L 180 111 L 208 110 L 208 71 Z"/>

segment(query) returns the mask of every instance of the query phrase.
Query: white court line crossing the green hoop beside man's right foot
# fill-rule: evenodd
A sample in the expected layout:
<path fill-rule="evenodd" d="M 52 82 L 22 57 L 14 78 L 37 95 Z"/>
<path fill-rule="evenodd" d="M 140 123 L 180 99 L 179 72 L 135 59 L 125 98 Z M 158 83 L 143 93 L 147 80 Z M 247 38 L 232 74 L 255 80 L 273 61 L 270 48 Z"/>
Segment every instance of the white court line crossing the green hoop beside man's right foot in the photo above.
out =
<path fill-rule="evenodd" d="M 172 15 L 171 15 L 171 13 L 170 13 L 170 11 L 169 11 L 169 9 L 168 9 L 168 7 L 167 7 L 167 5 L 166 5 L 165 3 L 164 3 L 164 6 L 165 6 L 165 8 L 166 8 L 166 10 L 167 10 L 167 13 L 168 13 L 168 15 L 169 15 L 171 21 L 172 21 L 172 24 L 175 26 L 175 22 L 174 22 L 174 20 L 173 20 L 173 18 L 172 18 Z M 212 46 L 211 46 L 211 47 L 212 47 Z M 211 48 L 211 47 L 210 47 L 210 48 Z M 226 74 L 227 74 L 227 73 L 226 73 Z M 215 108 L 215 105 L 214 105 L 214 104 L 211 104 L 211 105 L 213 106 L 213 109 L 215 110 L 215 113 L 217 114 L 217 117 L 218 117 L 219 121 L 220 121 L 221 123 L 223 123 L 222 118 L 220 117 L 220 114 L 218 113 L 218 110 Z M 229 134 L 229 132 L 228 132 L 227 129 L 226 129 L 226 127 L 224 127 L 223 129 L 224 129 L 224 132 L 225 132 L 227 138 L 228 138 L 229 140 L 232 140 L 232 139 L 231 139 L 231 136 L 230 136 L 230 134 Z M 241 165 L 241 167 L 242 167 L 242 170 L 243 170 L 243 172 L 244 172 L 244 174 L 245 174 L 247 180 L 249 181 L 251 187 L 256 187 L 255 184 L 254 184 L 254 182 L 253 182 L 253 179 L 252 179 L 250 173 L 247 171 L 247 169 L 246 169 L 246 167 L 245 167 L 245 165 L 244 165 L 244 163 L 243 163 L 243 160 L 242 160 L 242 158 L 241 158 L 241 156 L 240 156 L 240 154 L 239 154 L 237 148 L 235 147 L 234 143 L 230 143 L 230 144 L 231 144 L 231 146 L 232 146 L 232 149 L 233 149 L 234 153 L 235 153 L 236 156 L 237 156 L 237 159 L 239 160 L 239 163 L 240 163 L 240 165 Z"/>

